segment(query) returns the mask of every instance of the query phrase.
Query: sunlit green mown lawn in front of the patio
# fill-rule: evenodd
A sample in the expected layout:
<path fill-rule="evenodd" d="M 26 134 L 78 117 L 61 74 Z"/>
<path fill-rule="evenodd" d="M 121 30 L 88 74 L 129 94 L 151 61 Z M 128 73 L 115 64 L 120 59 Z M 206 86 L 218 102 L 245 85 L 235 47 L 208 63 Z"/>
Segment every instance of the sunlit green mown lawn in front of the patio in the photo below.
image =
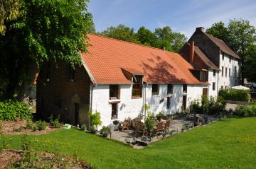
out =
<path fill-rule="evenodd" d="M 11 138 L 21 147 L 23 136 Z M 40 136 L 36 148 L 76 155 L 93 168 L 255 168 L 256 117 L 229 118 L 172 136 L 143 149 L 76 129 Z"/>

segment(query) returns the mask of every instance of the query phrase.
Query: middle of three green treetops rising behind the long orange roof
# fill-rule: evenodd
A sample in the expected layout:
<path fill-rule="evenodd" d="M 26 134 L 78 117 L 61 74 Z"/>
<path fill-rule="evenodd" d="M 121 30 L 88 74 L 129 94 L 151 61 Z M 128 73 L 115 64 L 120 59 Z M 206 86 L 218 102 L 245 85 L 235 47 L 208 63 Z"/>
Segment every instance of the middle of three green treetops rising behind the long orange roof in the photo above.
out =
<path fill-rule="evenodd" d="M 151 33 L 151 31 L 146 29 L 144 26 L 139 28 L 137 32 L 137 39 L 142 45 L 149 47 L 154 47 L 156 45 L 156 37 L 154 33 Z"/>

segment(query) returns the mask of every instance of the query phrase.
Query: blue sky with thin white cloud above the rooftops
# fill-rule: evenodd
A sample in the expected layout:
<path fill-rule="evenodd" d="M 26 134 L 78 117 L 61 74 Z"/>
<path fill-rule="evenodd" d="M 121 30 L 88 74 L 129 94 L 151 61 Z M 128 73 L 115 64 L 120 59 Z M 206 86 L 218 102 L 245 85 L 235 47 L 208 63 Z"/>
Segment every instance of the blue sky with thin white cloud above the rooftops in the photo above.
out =
<path fill-rule="evenodd" d="M 228 25 L 234 18 L 247 19 L 256 27 L 255 0 L 90 0 L 88 11 L 97 32 L 120 23 L 152 32 L 169 25 L 189 38 L 196 27 L 210 28 L 219 21 Z"/>

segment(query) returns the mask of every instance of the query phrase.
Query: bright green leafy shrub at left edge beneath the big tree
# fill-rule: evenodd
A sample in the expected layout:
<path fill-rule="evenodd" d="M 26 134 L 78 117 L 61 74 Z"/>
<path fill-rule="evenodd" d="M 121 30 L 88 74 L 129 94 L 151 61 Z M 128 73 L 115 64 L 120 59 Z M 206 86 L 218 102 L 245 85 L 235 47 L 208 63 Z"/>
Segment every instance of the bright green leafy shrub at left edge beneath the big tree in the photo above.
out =
<path fill-rule="evenodd" d="M 26 103 L 13 100 L 0 102 L 0 120 L 14 121 L 18 117 L 24 120 L 31 119 L 31 110 Z"/>

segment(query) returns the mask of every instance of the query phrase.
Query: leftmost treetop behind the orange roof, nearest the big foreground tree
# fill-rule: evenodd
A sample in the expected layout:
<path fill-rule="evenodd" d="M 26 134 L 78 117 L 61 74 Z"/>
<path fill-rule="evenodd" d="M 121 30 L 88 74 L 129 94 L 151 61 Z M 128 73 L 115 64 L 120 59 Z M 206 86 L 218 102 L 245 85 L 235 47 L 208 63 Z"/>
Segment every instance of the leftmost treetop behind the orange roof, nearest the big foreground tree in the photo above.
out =
<path fill-rule="evenodd" d="M 117 25 L 117 27 L 108 27 L 107 30 L 103 30 L 101 33 L 98 34 L 105 37 L 111 37 L 117 40 L 139 43 L 136 34 L 134 33 L 134 28 L 129 28 L 123 24 L 119 24 Z"/>

